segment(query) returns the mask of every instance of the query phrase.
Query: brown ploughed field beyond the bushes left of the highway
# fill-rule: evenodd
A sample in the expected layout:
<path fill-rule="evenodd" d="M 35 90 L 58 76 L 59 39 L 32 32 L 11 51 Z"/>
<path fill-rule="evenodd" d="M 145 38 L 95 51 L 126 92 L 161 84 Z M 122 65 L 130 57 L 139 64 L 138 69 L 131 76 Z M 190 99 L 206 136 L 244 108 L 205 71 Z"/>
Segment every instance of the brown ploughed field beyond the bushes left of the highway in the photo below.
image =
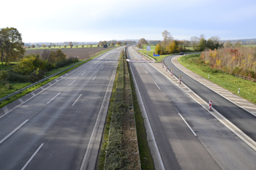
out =
<path fill-rule="evenodd" d="M 102 50 L 107 50 L 109 48 L 103 48 L 103 47 L 86 47 L 86 48 L 67 48 L 67 49 L 61 49 L 61 51 L 67 55 L 67 58 L 69 57 L 74 57 L 78 56 L 78 58 L 81 59 L 86 59 L 90 58 L 93 55 L 96 55 Z M 55 49 L 58 50 L 58 49 Z M 25 55 L 30 55 L 30 54 L 37 54 L 37 53 L 42 53 L 42 50 L 26 50 Z"/>

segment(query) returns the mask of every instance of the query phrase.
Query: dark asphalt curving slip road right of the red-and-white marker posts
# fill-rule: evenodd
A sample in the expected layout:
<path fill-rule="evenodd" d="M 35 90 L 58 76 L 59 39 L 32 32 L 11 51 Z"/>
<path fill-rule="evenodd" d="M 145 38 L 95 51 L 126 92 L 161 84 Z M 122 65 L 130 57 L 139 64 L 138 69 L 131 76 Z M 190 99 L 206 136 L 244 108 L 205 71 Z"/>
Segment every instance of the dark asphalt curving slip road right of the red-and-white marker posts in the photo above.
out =
<path fill-rule="evenodd" d="M 171 59 L 174 56 L 176 55 L 167 57 L 164 60 L 168 69 L 173 69 L 173 73 L 176 77 L 181 76 L 182 82 L 197 93 L 200 98 L 203 98 L 204 101 L 213 101 L 214 109 L 217 109 L 217 111 L 226 117 L 227 120 L 230 120 L 231 123 L 240 128 L 241 131 L 244 131 L 244 133 L 251 139 L 256 141 L 256 117 L 249 112 L 246 112 L 244 109 L 241 109 L 241 107 L 238 107 L 236 104 L 228 101 L 226 98 L 219 96 L 219 94 L 200 84 L 200 82 L 192 79 L 187 74 L 184 74 L 184 72 L 181 72 L 171 62 Z"/>

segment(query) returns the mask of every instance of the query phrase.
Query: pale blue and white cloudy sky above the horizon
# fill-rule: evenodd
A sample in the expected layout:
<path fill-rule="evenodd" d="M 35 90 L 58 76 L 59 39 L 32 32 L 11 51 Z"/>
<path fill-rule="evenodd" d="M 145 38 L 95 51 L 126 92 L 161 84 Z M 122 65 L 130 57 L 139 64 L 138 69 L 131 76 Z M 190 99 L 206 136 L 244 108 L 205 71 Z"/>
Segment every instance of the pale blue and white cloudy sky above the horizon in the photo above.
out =
<path fill-rule="evenodd" d="M 98 42 L 111 39 L 256 38 L 256 0 L 1 1 L 0 28 L 23 42 Z"/>

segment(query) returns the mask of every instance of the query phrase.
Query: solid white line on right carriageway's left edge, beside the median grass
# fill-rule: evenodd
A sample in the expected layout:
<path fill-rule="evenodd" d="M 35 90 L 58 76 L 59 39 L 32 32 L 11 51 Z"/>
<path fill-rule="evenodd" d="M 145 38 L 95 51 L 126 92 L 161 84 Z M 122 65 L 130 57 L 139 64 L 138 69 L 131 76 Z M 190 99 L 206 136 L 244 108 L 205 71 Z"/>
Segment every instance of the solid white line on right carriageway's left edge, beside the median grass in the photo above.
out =
<path fill-rule="evenodd" d="M 140 96 L 140 90 L 139 90 L 138 85 L 137 85 L 137 82 L 136 82 L 136 80 L 135 80 L 135 75 L 133 74 L 132 66 L 130 66 L 130 69 L 131 69 L 131 72 L 132 72 L 132 77 L 133 77 L 133 79 L 134 79 L 136 88 L 137 88 L 137 90 L 138 90 L 138 94 L 139 94 L 139 96 Z M 144 112 L 146 113 L 146 109 L 145 109 L 145 107 L 144 107 L 144 103 L 143 103 L 143 100 L 142 100 L 142 97 L 141 97 L 141 96 L 140 96 L 140 101 L 141 101 L 141 105 L 142 105 L 142 107 L 143 107 L 143 110 L 144 110 Z M 158 147 L 157 147 L 156 139 L 154 138 L 154 133 L 153 133 L 151 124 L 150 124 L 150 122 L 149 122 L 149 120 L 148 120 L 148 115 L 147 115 L 147 113 L 146 113 L 145 115 L 146 115 L 146 121 L 148 122 L 148 125 L 149 125 L 150 134 L 151 134 L 151 136 L 152 136 L 152 138 L 153 138 L 154 147 L 155 147 L 155 150 L 157 151 L 157 155 L 158 155 L 158 159 L 159 159 L 160 166 L 161 166 L 162 169 L 165 169 L 164 163 L 162 162 L 162 157 L 161 157 L 160 152 L 159 152 L 159 149 L 158 149 Z"/>

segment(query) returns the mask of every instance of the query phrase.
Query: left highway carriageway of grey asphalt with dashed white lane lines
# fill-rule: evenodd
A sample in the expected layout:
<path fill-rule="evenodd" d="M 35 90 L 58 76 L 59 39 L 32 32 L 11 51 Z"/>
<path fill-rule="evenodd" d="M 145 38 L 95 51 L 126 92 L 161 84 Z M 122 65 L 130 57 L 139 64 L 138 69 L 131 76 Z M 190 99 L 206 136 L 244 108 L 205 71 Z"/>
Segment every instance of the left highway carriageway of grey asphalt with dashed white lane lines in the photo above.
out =
<path fill-rule="evenodd" d="M 62 75 L 0 115 L 0 169 L 94 169 L 121 50 Z"/>

